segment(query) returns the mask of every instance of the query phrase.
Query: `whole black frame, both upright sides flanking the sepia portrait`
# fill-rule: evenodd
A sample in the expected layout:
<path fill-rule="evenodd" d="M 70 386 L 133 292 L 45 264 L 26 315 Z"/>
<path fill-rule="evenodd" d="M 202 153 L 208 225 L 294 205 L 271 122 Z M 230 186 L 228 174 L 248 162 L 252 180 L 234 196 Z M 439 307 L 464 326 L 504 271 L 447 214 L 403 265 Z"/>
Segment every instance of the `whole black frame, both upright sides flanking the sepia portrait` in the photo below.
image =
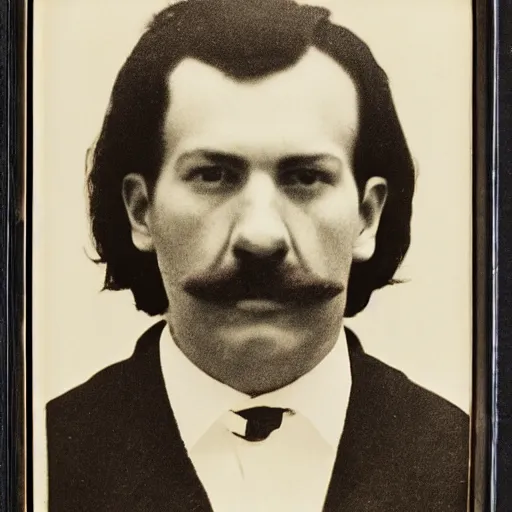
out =
<path fill-rule="evenodd" d="M 32 508 L 31 34 L 30 0 L 0 2 L 0 512 Z M 512 0 L 473 0 L 473 34 L 470 510 L 506 512 L 512 507 Z"/>

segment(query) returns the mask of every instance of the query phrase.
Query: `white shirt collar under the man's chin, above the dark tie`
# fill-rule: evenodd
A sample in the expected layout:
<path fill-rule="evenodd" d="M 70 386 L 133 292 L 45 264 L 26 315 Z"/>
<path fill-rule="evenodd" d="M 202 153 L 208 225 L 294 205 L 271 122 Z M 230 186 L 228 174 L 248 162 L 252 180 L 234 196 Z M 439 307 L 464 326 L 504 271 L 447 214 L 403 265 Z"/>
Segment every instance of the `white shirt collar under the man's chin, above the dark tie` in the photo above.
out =
<path fill-rule="evenodd" d="M 178 348 L 168 326 L 160 337 L 160 361 L 167 395 L 188 450 L 227 411 L 259 405 L 293 409 L 305 416 L 331 447 L 338 446 L 352 385 L 344 329 L 333 349 L 310 372 L 255 398 L 195 366 Z"/>

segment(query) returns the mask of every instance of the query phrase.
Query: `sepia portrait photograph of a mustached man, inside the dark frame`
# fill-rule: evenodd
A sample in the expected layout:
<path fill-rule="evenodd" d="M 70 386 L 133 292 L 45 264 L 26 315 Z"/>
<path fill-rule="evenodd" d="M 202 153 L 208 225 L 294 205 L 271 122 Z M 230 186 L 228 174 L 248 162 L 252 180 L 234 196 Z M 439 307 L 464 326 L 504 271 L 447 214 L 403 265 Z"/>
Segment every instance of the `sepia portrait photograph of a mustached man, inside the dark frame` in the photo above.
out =
<path fill-rule="evenodd" d="M 469 0 L 36 0 L 36 511 L 465 512 Z"/>

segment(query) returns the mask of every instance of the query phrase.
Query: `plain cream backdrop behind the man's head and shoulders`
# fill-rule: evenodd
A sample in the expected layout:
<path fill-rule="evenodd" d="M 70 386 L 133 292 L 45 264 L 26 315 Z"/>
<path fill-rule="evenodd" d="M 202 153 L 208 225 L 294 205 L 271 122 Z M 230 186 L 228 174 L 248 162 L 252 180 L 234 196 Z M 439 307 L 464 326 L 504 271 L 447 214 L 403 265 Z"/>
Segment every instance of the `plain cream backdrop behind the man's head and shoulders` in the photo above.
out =
<path fill-rule="evenodd" d="M 313 2 L 311 2 L 313 3 Z M 366 350 L 468 411 L 471 379 L 471 2 L 338 0 L 334 19 L 387 71 L 418 168 L 405 284 L 347 324 Z M 115 76 L 167 0 L 36 0 L 34 13 L 35 503 L 45 501 L 44 404 L 128 357 L 154 319 L 102 292 L 88 260 L 85 150 Z"/>

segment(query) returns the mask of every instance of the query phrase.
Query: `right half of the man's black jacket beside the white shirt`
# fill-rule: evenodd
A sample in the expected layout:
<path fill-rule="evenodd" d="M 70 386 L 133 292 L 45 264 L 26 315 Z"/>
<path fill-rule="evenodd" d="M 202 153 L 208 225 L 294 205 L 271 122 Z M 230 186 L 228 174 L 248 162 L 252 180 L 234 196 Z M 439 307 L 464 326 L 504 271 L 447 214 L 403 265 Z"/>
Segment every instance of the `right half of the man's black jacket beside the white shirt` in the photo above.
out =
<path fill-rule="evenodd" d="M 347 337 L 353 387 L 338 453 L 347 506 L 364 495 L 368 512 L 465 511 L 468 415 Z"/>

